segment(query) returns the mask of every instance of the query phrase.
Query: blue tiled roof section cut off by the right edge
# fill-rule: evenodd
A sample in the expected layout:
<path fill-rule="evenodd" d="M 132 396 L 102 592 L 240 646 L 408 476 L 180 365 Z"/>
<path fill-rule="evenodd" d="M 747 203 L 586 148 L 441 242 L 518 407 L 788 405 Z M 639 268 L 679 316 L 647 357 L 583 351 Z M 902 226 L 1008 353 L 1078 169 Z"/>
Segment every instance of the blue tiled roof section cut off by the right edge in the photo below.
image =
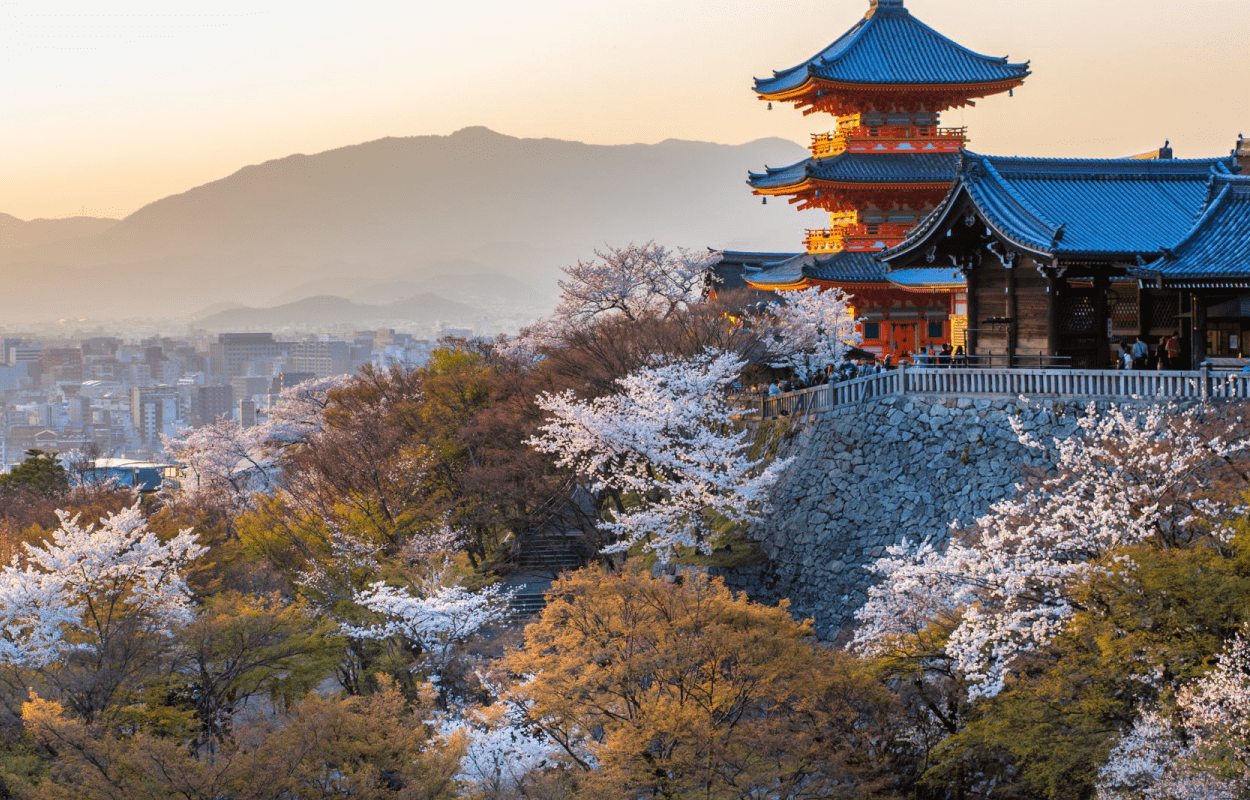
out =
<path fill-rule="evenodd" d="M 1250 175 L 1216 176 L 1210 195 L 1214 199 L 1189 235 L 1135 274 L 1170 282 L 1250 279 Z"/>

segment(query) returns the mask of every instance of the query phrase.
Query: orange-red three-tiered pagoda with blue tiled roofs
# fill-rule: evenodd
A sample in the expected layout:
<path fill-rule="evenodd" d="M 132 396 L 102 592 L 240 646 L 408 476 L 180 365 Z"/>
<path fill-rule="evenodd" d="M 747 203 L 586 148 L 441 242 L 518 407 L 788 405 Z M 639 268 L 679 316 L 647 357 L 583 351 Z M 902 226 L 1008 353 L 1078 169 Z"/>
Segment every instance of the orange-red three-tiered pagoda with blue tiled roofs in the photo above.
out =
<path fill-rule="evenodd" d="M 838 120 L 811 138 L 811 158 L 750 175 L 764 202 L 821 209 L 830 225 L 808 231 L 804 252 L 748 272 L 748 285 L 842 289 L 865 320 L 865 348 L 879 355 L 958 340 L 966 325 L 961 276 L 912 270 L 891 281 L 875 256 L 900 244 L 951 186 L 968 138 L 964 128 L 942 128 L 941 112 L 1010 92 L 1028 76 L 1028 64 L 955 44 L 904 0 L 870 0 L 864 19 L 822 51 L 756 79 L 769 108 L 788 102 Z"/>

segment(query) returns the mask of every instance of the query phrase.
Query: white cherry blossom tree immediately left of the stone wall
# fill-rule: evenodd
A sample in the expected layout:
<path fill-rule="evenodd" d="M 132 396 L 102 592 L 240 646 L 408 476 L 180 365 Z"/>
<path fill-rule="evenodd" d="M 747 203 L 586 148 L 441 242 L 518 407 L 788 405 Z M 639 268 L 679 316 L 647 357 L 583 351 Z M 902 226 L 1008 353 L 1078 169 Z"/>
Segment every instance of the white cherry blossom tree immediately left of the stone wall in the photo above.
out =
<path fill-rule="evenodd" d="M 748 432 L 732 430 L 728 394 L 744 364 L 706 350 L 656 359 L 618 380 L 619 394 L 539 396 L 551 419 L 531 446 L 618 499 L 602 525 L 618 538 L 608 551 L 645 542 L 664 561 L 678 548 L 706 552 L 715 541 L 710 515 L 745 524 L 766 511 L 768 490 L 788 462 L 749 458 Z"/>

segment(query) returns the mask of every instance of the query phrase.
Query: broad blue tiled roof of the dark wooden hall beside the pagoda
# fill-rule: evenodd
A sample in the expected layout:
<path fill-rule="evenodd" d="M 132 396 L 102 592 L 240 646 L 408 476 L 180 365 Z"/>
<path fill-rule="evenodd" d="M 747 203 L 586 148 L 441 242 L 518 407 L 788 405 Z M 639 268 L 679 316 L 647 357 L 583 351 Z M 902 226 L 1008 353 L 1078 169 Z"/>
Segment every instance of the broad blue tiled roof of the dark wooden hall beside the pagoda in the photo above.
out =
<path fill-rule="evenodd" d="M 1048 256 L 1158 254 L 1180 241 L 1231 158 L 1198 160 L 1009 159 L 964 154 L 946 200 L 882 255 L 894 261 L 928 240 L 960 198 L 1008 242 Z"/>

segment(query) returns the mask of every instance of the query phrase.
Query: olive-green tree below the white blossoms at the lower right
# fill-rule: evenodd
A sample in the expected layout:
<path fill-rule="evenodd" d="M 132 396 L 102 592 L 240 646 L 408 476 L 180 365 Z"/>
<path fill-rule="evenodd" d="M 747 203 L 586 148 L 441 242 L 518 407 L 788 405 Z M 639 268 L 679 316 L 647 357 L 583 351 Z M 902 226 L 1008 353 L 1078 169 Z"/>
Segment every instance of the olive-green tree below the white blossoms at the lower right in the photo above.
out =
<path fill-rule="evenodd" d="M 1138 714 L 1168 704 L 1174 688 L 1202 675 L 1250 620 L 1250 532 L 1185 548 L 1138 545 L 1076 589 L 1069 629 L 1031 655 L 999 696 L 966 709 L 934 754 L 932 790 L 975 789 L 994 798 L 1084 800 L 1099 768 Z"/>

